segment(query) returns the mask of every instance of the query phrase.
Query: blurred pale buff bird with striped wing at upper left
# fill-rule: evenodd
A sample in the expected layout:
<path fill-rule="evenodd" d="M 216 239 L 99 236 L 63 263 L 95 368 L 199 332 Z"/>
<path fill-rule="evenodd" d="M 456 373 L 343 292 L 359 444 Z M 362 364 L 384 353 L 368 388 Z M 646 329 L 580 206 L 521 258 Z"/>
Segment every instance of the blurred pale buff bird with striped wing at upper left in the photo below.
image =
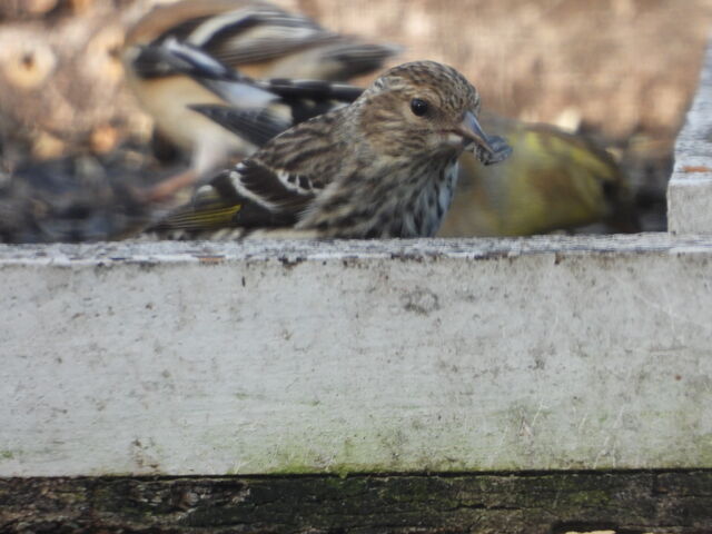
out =
<path fill-rule="evenodd" d="M 165 47 L 171 41 L 200 49 L 255 79 L 347 80 L 380 68 L 397 52 L 256 0 L 184 0 L 155 8 L 128 32 L 122 57 L 129 85 L 159 132 L 192 155 L 191 169 L 162 192 L 224 167 L 230 155 L 239 159 L 257 148 L 188 109 L 224 103 L 224 95 L 165 61 Z M 266 103 L 258 95 L 243 92 L 233 93 L 229 101 L 246 110 Z"/>

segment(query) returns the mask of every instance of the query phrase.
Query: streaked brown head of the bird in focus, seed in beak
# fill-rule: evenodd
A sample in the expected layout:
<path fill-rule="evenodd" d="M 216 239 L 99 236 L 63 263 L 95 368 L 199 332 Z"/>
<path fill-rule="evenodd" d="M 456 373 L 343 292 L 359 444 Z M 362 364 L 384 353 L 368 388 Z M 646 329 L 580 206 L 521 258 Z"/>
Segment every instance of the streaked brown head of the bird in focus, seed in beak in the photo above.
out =
<path fill-rule="evenodd" d="M 407 156 L 459 155 L 472 150 L 490 165 L 512 151 L 502 138 L 483 131 L 477 121 L 479 95 L 452 67 L 435 61 L 394 67 L 360 100 L 363 129 L 372 145 L 385 154 L 406 156 L 402 154 L 406 149 Z"/>

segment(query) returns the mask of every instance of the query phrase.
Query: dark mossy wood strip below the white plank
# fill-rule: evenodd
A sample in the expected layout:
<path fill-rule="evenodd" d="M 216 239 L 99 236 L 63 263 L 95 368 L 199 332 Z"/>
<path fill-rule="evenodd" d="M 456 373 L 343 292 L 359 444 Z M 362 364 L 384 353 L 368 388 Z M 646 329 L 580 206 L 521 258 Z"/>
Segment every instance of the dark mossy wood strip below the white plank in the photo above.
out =
<path fill-rule="evenodd" d="M 0 479 L 3 533 L 692 534 L 712 474 Z"/>

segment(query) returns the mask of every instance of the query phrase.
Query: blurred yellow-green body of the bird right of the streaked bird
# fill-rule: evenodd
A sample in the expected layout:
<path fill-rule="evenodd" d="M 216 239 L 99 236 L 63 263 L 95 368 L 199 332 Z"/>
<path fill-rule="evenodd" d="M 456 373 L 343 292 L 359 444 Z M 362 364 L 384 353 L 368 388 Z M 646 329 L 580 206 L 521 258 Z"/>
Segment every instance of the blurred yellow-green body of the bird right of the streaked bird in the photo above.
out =
<path fill-rule="evenodd" d="M 623 171 L 593 141 L 492 115 L 481 122 L 504 136 L 513 154 L 491 167 L 459 158 L 457 194 L 438 236 L 528 236 L 594 222 L 640 230 Z"/>

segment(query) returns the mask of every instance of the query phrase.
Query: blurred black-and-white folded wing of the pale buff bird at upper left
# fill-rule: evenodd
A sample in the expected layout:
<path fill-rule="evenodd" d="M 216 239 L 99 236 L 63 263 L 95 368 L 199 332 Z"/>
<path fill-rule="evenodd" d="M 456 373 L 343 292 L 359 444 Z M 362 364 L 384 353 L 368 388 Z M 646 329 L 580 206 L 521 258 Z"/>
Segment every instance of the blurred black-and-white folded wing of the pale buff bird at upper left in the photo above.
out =
<path fill-rule="evenodd" d="M 259 78 L 347 80 L 380 68 L 399 51 L 328 31 L 267 2 L 184 0 L 156 8 L 132 29 L 129 43 L 144 44 L 134 70 L 147 78 L 168 75 L 154 52 L 170 40 L 200 48 L 231 68 L 256 68 Z"/>

